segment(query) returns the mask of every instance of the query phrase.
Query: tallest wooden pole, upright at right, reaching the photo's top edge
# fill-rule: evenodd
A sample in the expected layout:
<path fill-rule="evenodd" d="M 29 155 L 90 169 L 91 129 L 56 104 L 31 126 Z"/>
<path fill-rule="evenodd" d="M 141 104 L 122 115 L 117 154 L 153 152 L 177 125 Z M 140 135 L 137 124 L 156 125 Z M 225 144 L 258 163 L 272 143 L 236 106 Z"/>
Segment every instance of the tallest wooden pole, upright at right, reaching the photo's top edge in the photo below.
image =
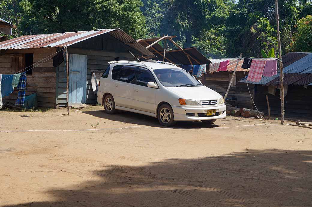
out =
<path fill-rule="evenodd" d="M 278 15 L 278 2 L 275 0 L 275 17 L 276 17 L 276 29 L 277 29 L 277 41 L 278 41 L 278 54 L 279 54 L 279 67 L 280 67 L 280 123 L 284 124 L 284 74 L 282 63 L 282 50 L 280 47 L 280 17 Z"/>

